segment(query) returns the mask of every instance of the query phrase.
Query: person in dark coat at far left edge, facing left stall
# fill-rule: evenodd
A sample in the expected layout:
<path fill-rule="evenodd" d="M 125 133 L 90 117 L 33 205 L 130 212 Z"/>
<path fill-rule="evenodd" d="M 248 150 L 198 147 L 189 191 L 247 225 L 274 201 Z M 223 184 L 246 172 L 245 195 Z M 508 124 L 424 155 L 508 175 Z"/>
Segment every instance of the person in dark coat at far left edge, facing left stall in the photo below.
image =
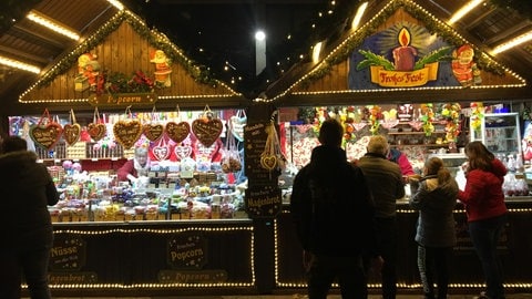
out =
<path fill-rule="evenodd" d="M 1 144 L 0 195 L 4 210 L 0 231 L 6 238 L 0 247 L 0 298 L 20 298 L 22 276 L 31 298 L 51 298 L 48 264 L 53 229 L 48 206 L 58 203 L 59 194 L 47 167 L 18 136 Z"/>

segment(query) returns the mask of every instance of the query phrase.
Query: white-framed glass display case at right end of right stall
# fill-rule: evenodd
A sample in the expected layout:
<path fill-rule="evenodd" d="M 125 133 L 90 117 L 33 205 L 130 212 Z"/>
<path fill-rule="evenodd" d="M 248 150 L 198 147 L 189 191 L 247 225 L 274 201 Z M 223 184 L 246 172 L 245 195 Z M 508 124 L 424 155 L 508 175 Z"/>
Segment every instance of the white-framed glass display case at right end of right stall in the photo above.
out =
<path fill-rule="evenodd" d="M 471 127 L 471 141 L 482 142 L 503 161 L 521 155 L 519 113 L 487 113 L 479 128 Z"/>

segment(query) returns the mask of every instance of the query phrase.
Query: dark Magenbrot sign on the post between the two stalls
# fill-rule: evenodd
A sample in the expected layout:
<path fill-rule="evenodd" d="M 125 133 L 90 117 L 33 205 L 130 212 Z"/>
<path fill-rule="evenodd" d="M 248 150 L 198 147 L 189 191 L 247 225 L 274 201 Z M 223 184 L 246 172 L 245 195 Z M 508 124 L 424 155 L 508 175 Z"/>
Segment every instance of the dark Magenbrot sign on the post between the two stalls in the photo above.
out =
<path fill-rule="evenodd" d="M 246 189 L 245 207 L 250 218 L 270 218 L 283 209 L 283 195 L 275 185 L 250 185 Z"/>

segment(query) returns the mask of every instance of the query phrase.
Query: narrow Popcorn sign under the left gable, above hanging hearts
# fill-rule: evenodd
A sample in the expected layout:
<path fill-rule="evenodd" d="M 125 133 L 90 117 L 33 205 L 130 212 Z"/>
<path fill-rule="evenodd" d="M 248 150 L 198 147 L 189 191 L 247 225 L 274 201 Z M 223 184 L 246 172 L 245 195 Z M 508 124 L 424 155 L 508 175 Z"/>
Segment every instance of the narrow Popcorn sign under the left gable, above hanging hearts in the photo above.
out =
<path fill-rule="evenodd" d="M 153 105 L 157 102 L 155 93 L 104 93 L 89 96 L 89 103 L 93 106 L 129 106 Z"/>

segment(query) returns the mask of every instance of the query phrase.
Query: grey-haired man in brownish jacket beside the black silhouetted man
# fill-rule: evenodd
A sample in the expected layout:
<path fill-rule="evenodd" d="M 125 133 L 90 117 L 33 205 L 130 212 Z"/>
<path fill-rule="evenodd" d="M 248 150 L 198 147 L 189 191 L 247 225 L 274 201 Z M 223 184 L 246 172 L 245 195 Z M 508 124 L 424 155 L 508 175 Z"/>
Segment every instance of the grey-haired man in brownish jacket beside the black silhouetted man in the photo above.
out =
<path fill-rule="evenodd" d="M 381 270 L 382 298 L 395 299 L 397 293 L 397 199 L 405 197 L 401 168 L 387 158 L 390 151 L 382 135 L 371 136 L 366 154 L 357 165 L 368 182 L 376 206 L 379 254 L 385 260 Z M 369 262 L 366 262 L 367 267 Z"/>

